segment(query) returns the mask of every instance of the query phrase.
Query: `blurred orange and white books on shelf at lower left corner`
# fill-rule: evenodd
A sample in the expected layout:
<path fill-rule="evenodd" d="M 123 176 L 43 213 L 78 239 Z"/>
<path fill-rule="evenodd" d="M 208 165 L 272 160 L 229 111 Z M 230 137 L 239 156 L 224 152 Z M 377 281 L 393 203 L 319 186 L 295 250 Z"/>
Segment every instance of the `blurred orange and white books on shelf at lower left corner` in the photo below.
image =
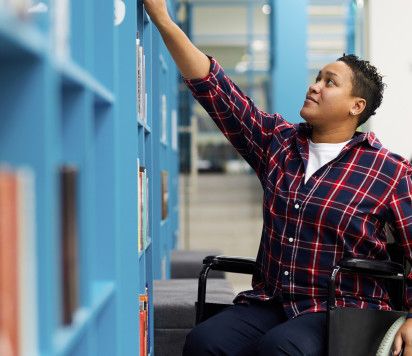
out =
<path fill-rule="evenodd" d="M 35 355 L 37 254 L 35 177 L 0 167 L 0 355 Z"/>

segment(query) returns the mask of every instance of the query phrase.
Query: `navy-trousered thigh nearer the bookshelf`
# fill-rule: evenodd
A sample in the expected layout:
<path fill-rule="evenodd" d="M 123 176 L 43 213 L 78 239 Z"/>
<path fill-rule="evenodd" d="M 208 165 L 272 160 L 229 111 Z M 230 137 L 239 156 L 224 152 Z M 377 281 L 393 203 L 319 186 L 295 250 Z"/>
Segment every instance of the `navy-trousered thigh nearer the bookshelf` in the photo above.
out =
<path fill-rule="evenodd" d="M 280 305 L 252 303 L 230 306 L 195 326 L 186 337 L 183 355 L 254 354 L 268 330 L 286 320 Z"/>

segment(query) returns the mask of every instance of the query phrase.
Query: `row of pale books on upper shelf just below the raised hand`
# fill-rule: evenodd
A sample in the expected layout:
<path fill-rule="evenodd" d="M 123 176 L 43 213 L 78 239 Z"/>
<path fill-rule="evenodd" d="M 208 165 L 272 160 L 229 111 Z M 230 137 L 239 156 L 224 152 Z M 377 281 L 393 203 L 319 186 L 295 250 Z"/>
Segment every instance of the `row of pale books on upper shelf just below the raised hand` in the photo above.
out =
<path fill-rule="evenodd" d="M 136 34 L 136 112 L 138 118 L 144 123 L 147 122 L 147 92 L 146 92 L 146 56 L 144 54 L 142 40 Z"/>

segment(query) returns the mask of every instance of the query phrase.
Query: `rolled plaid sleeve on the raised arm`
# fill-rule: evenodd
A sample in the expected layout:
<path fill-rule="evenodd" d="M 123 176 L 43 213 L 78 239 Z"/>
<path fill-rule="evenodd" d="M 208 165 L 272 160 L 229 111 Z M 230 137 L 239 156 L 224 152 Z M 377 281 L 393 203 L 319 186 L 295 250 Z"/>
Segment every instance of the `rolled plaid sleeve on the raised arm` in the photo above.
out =
<path fill-rule="evenodd" d="M 210 72 L 206 77 L 183 80 L 220 131 L 262 179 L 269 144 L 279 147 L 293 125 L 279 114 L 258 109 L 220 64 L 213 57 L 208 58 Z"/>

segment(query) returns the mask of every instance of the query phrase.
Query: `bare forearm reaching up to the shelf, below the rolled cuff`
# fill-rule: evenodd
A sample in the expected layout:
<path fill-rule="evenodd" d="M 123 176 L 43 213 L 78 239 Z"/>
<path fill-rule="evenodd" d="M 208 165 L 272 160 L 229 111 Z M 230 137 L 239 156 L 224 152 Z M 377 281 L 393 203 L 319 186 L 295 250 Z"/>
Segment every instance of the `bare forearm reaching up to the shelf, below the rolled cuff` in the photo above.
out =
<path fill-rule="evenodd" d="M 209 58 L 173 22 L 167 12 L 165 0 L 144 0 L 143 3 L 183 78 L 200 79 L 205 77 L 210 69 Z"/>

